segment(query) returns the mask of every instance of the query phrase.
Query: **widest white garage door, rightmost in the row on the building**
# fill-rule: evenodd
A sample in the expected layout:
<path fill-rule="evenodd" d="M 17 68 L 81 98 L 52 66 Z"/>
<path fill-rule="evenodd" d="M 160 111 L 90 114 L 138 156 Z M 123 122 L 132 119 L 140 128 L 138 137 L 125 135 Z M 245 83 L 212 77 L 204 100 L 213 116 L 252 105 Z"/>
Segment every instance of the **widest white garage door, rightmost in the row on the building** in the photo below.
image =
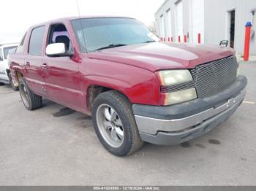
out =
<path fill-rule="evenodd" d="M 201 34 L 201 42 L 204 36 L 204 0 L 192 0 L 192 42 L 198 42 L 198 34 Z"/>

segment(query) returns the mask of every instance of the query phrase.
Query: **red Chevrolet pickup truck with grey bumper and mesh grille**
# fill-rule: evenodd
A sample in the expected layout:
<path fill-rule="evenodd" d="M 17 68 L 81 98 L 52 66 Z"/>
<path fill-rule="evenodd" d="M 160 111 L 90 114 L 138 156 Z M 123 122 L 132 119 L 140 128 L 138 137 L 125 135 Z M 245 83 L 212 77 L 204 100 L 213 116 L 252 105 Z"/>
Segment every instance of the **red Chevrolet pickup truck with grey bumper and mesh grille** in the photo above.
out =
<path fill-rule="evenodd" d="M 236 111 L 247 79 L 227 47 L 164 44 L 129 17 L 72 17 L 29 28 L 10 55 L 26 109 L 42 98 L 91 115 L 114 155 L 179 144 Z M 231 132 L 230 132 L 231 133 Z"/>

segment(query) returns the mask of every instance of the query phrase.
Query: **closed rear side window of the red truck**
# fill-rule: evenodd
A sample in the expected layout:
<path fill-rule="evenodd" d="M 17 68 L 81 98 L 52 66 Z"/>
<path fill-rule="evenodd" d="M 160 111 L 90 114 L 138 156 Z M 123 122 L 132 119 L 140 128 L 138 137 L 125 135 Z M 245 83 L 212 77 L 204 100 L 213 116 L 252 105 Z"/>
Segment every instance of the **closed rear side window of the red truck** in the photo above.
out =
<path fill-rule="evenodd" d="M 45 26 L 34 28 L 29 40 L 29 55 L 42 55 Z"/>

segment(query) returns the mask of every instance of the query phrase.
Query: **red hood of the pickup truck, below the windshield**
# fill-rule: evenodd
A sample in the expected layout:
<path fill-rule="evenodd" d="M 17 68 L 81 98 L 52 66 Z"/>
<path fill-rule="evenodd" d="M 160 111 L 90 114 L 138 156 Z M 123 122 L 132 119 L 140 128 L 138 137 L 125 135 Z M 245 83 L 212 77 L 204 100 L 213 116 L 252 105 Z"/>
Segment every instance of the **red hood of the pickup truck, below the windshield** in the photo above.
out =
<path fill-rule="evenodd" d="M 114 47 L 88 54 L 91 59 L 113 61 L 158 71 L 162 69 L 194 69 L 195 66 L 234 55 L 227 47 L 197 44 L 165 44 L 160 42 Z"/>

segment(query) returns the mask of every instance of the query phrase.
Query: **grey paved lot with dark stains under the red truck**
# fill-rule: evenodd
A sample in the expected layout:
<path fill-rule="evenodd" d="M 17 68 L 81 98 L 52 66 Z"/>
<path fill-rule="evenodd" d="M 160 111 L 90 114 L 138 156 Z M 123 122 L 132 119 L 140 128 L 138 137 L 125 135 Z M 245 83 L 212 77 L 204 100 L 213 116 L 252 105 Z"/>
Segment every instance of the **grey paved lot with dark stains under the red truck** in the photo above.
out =
<path fill-rule="evenodd" d="M 29 112 L 0 87 L 0 185 L 256 185 L 256 62 L 243 104 L 206 135 L 176 146 L 146 144 L 116 157 L 99 143 L 91 118 L 45 101 Z"/>

